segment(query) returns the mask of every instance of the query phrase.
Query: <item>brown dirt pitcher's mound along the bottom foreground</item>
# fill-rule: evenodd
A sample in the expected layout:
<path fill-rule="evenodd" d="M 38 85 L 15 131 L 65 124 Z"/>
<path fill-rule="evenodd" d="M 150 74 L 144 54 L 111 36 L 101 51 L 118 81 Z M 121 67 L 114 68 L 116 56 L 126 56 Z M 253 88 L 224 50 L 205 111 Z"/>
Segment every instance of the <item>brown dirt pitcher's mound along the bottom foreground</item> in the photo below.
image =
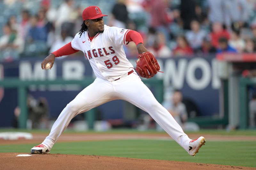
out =
<path fill-rule="evenodd" d="M 0 169 L 90 169 L 90 170 L 154 170 L 154 169 L 245 169 L 255 168 L 242 166 L 226 166 L 214 164 L 199 164 L 191 162 L 118 158 L 95 155 L 65 155 L 65 154 L 42 154 L 29 157 L 16 157 L 22 153 L 0 153 Z"/>

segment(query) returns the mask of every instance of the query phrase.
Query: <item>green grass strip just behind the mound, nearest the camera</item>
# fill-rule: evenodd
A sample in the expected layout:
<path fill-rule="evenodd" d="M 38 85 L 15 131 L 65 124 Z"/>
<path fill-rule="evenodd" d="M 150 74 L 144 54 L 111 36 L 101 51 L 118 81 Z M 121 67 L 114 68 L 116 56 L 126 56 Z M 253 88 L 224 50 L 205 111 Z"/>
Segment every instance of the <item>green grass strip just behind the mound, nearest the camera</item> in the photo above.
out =
<path fill-rule="evenodd" d="M 30 153 L 37 144 L 0 145 L 0 152 Z M 175 160 L 256 167 L 255 141 L 206 141 L 195 157 L 170 140 L 107 140 L 56 143 L 51 153 Z"/>

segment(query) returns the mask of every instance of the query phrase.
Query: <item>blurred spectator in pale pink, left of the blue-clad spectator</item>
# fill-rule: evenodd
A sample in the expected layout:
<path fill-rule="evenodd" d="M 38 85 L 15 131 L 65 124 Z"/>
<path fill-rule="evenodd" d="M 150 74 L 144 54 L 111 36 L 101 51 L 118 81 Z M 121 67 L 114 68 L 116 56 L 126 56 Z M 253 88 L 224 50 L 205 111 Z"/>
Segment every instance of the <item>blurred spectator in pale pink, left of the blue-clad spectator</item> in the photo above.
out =
<path fill-rule="evenodd" d="M 29 30 L 29 18 L 30 18 L 30 14 L 28 10 L 23 10 L 21 12 L 21 22 L 19 25 L 19 29 L 18 29 L 18 34 L 19 36 L 25 40 L 25 37 L 28 35 L 28 30 Z"/>

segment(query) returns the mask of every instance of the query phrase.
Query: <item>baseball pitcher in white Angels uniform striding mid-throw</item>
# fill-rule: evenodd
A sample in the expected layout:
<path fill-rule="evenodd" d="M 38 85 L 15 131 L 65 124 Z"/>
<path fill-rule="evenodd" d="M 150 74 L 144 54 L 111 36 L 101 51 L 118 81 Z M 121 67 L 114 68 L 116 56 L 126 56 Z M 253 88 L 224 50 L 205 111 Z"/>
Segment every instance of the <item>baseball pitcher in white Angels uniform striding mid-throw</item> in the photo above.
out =
<path fill-rule="evenodd" d="M 49 136 L 42 144 L 34 146 L 31 153 L 50 153 L 73 117 L 108 101 L 121 99 L 148 112 L 188 154 L 195 156 L 205 143 L 204 137 L 191 140 L 140 79 L 151 78 L 160 70 L 156 58 L 144 47 L 140 33 L 104 25 L 103 16 L 107 15 L 102 14 L 97 6 L 85 8 L 79 33 L 70 43 L 48 55 L 42 62 L 42 69 L 47 63 L 50 63 L 51 69 L 55 57 L 80 50 L 91 64 L 96 79 L 68 103 L 53 124 Z M 136 44 L 139 53 L 136 71 L 124 53 L 123 46 L 130 41 Z"/>

